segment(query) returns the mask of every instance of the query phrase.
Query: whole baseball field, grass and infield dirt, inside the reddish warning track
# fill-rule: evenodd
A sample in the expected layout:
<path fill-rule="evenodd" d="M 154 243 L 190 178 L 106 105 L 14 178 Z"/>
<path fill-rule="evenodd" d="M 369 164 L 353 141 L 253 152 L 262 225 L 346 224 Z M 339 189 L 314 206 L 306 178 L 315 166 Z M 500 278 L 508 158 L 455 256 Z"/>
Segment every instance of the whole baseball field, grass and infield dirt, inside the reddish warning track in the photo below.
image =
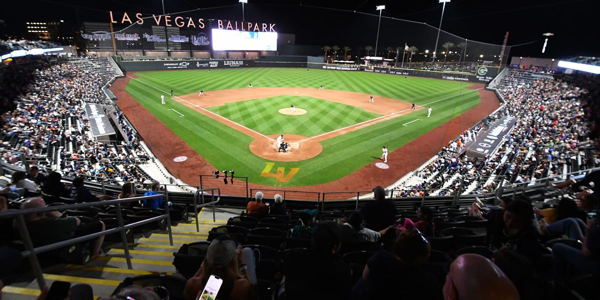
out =
<path fill-rule="evenodd" d="M 383 162 L 384 145 L 388 160 L 402 160 L 394 156 L 395 149 L 480 103 L 479 92 L 468 82 L 367 72 L 237 68 L 128 77 L 125 91 L 210 164 L 205 170 L 189 169 L 194 176 L 208 167 L 235 169 L 236 176 L 269 186 L 335 181 Z M 370 95 L 374 103 L 369 103 Z M 290 105 L 305 113 L 282 113 Z M 136 113 L 127 117 L 140 121 Z M 280 134 L 290 144 L 288 152 L 278 152 L 274 145 Z M 395 174 L 393 167 L 389 172 L 404 175 Z"/>

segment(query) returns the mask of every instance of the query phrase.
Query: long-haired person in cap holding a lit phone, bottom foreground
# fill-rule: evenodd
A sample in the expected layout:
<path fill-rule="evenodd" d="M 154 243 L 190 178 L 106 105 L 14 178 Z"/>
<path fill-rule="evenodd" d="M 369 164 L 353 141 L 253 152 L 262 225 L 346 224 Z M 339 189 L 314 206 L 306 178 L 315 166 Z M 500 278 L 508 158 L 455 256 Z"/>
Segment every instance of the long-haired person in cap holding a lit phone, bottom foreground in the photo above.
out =
<path fill-rule="evenodd" d="M 253 299 L 253 284 L 257 282 L 254 253 L 250 248 L 242 249 L 229 235 L 220 235 L 212 240 L 202 266 L 185 283 L 185 299 L 199 299 L 211 275 L 223 280 L 217 293 L 218 299 Z"/>

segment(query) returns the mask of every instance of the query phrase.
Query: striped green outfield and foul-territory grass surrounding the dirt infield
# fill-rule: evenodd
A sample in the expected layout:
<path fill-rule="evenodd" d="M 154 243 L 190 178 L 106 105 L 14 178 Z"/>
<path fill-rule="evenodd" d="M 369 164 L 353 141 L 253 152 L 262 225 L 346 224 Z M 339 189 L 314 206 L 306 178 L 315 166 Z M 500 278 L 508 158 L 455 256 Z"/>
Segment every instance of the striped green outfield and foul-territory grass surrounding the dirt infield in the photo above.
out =
<path fill-rule="evenodd" d="M 125 90 L 213 166 L 217 169 L 235 169 L 236 175 L 247 176 L 250 182 L 272 186 L 314 185 L 334 181 L 372 163 L 380 157 L 382 145 L 388 145 L 394 151 L 479 104 L 478 92 L 466 88 L 470 83 L 419 77 L 404 80 L 403 76 L 358 71 L 240 68 L 135 75 L 139 79 L 131 80 Z M 431 106 L 433 113 L 431 118 L 427 118 L 427 111 L 419 110 L 325 140 L 322 142 L 323 152 L 309 160 L 277 161 L 275 167 L 285 167 L 286 174 L 289 167 L 299 167 L 300 170 L 289 182 L 276 182 L 275 178 L 260 176 L 265 163 L 269 161 L 250 152 L 248 146 L 251 137 L 175 101 L 167 100 L 167 104 L 160 104 L 160 95 L 169 98 L 170 89 L 174 90 L 175 95 L 185 95 L 197 93 L 199 89 L 245 88 L 248 83 L 255 87 L 319 88 L 319 85 L 323 85 L 326 89 L 362 92 Z M 175 109 L 185 116 L 180 117 L 169 109 Z M 128 115 L 128 118 L 135 119 L 136 116 Z M 292 120 L 296 117 L 288 118 Z M 403 126 L 415 119 L 422 121 Z M 464 128 L 470 125 L 464 124 Z M 436 140 L 427 146 L 440 149 L 447 143 L 447 140 Z M 403 158 L 390 154 L 388 159 Z"/>

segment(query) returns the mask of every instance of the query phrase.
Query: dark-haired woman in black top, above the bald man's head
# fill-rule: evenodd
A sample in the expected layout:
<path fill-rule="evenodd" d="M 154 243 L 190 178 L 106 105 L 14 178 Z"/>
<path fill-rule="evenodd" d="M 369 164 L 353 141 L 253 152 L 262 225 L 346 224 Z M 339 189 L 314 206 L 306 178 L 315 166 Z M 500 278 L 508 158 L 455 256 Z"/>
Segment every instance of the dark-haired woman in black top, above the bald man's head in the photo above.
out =
<path fill-rule="evenodd" d="M 491 236 L 491 249 L 512 250 L 536 262 L 541 255 L 541 245 L 532 218 L 533 206 L 529 202 L 520 199 L 512 201 L 506 206 L 504 229 Z"/>

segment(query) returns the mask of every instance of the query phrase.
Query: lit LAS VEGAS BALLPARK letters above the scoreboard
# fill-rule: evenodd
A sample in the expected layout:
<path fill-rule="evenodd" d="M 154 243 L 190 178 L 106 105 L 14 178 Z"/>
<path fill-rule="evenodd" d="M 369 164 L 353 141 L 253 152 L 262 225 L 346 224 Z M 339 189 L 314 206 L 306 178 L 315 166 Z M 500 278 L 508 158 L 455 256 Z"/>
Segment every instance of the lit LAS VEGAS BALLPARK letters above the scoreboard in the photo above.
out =
<path fill-rule="evenodd" d="M 138 24 L 143 25 L 148 22 L 152 26 L 166 26 L 166 27 L 179 27 L 179 28 L 200 28 L 206 27 L 206 20 L 204 18 L 188 17 L 188 16 L 171 16 L 170 14 L 158 16 L 152 14 L 142 13 L 113 13 L 109 11 L 110 23 L 131 25 Z M 241 31 L 268 31 L 275 32 L 275 23 L 261 23 L 261 22 L 238 22 L 230 20 L 215 20 L 217 22 L 218 29 L 230 29 L 230 30 L 241 30 Z"/>

